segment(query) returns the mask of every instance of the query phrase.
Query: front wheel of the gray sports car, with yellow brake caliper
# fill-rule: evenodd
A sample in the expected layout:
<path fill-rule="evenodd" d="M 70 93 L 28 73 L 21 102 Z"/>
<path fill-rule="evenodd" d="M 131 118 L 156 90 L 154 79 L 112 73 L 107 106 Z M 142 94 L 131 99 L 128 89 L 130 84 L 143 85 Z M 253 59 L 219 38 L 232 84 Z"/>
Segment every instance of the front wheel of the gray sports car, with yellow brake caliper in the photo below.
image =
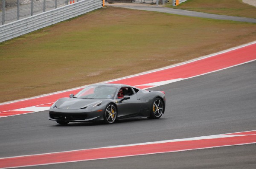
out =
<path fill-rule="evenodd" d="M 112 124 L 116 121 L 116 116 L 117 116 L 117 110 L 116 106 L 112 103 L 108 104 L 105 108 L 104 112 L 104 123 L 105 124 Z"/>

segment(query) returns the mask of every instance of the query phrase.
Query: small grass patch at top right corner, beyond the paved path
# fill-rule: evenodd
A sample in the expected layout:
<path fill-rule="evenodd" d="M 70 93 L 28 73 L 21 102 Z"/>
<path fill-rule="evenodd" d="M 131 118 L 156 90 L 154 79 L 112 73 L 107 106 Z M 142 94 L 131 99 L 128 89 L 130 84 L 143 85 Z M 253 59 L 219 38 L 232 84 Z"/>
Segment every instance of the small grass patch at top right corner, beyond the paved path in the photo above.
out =
<path fill-rule="evenodd" d="M 242 0 L 187 0 L 177 7 L 172 6 L 170 0 L 167 6 L 210 14 L 256 18 L 256 7 L 243 3 Z"/>

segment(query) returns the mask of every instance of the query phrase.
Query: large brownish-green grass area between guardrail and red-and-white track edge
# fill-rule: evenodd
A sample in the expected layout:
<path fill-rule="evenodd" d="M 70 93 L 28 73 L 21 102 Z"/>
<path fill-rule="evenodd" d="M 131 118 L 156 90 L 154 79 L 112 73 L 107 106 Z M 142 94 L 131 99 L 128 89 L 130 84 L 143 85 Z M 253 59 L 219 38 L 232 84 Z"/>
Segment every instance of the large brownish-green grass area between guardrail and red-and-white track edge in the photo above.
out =
<path fill-rule="evenodd" d="M 254 40 L 256 24 L 101 8 L 0 43 L 0 102 L 161 68 Z"/>

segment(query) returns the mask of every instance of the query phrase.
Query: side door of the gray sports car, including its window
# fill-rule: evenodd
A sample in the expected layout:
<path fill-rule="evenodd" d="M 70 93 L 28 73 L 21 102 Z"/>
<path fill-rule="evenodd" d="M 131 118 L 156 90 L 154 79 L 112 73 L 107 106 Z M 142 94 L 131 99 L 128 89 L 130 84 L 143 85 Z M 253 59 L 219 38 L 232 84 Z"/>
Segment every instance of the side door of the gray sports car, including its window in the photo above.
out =
<path fill-rule="evenodd" d="M 118 117 L 125 118 L 137 115 L 140 112 L 141 101 L 131 87 L 121 87 L 123 96 L 130 96 L 130 99 L 120 101 L 118 104 Z M 120 99 L 118 99 L 120 100 Z"/>

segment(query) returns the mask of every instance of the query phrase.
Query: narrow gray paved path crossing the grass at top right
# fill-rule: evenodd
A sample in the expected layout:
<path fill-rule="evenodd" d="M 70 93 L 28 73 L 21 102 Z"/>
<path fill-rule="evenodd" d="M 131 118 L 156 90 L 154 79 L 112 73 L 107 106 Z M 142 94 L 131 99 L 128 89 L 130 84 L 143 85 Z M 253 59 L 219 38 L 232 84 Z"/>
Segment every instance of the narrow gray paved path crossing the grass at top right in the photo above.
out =
<path fill-rule="evenodd" d="M 166 8 L 162 6 L 153 6 L 153 5 L 148 6 L 148 5 L 138 4 L 138 3 L 133 5 L 126 5 L 124 3 L 107 4 L 107 6 L 117 6 L 122 8 L 145 10 L 145 11 L 157 11 L 157 12 L 164 12 L 168 14 L 184 15 L 189 17 L 202 17 L 202 18 L 210 18 L 210 19 L 217 19 L 217 20 L 233 20 L 233 21 L 239 21 L 239 22 L 256 23 L 256 19 L 253 19 L 253 18 L 233 17 L 233 16 L 226 16 L 226 15 L 218 15 L 218 14 L 207 14 L 203 12 Z"/>

